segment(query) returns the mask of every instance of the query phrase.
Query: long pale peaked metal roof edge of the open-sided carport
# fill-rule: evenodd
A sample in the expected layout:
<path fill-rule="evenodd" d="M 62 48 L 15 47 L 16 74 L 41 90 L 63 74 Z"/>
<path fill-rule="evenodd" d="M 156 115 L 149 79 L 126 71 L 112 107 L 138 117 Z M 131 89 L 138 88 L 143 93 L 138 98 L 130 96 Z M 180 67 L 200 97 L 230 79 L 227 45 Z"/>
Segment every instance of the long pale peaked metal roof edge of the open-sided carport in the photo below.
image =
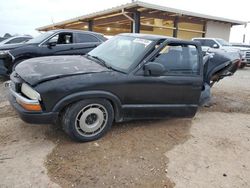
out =
<path fill-rule="evenodd" d="M 112 7 L 112 8 L 103 10 L 103 11 L 98 11 L 98 12 L 94 12 L 94 13 L 91 13 L 91 14 L 86 14 L 86 15 L 83 15 L 83 16 L 79 16 L 79 17 L 76 17 L 76 18 L 65 20 L 65 21 L 62 21 L 62 22 L 58 22 L 58 23 L 55 23 L 55 24 L 50 24 L 50 25 L 47 25 L 47 26 L 39 27 L 39 28 L 37 28 L 37 30 L 43 31 L 43 30 L 46 30 L 46 29 L 51 28 L 51 27 L 62 26 L 62 25 L 66 25 L 66 24 L 70 24 L 70 23 L 74 23 L 74 22 L 79 22 L 79 21 L 82 21 L 82 20 L 91 20 L 92 18 L 95 18 L 95 17 L 98 17 L 98 16 L 103 16 L 103 15 L 106 15 L 106 14 L 112 14 L 112 13 L 121 11 L 122 9 L 130 9 L 130 8 L 136 8 L 136 7 L 160 10 L 160 11 L 164 11 L 164 12 L 171 12 L 171 13 L 176 13 L 176 14 L 183 15 L 183 16 L 192 16 L 192 17 L 197 17 L 197 18 L 204 18 L 204 19 L 207 19 L 207 20 L 227 22 L 227 23 L 231 23 L 233 25 L 246 24 L 246 22 L 244 22 L 244 21 L 232 20 L 232 19 L 228 19 L 228 18 L 216 17 L 216 16 L 211 16 L 211 15 L 206 15 L 206 14 L 200 14 L 200 13 L 190 12 L 190 11 L 186 11 L 186 10 L 180 10 L 180 9 L 166 7 L 166 6 L 160 6 L 160 5 L 155 5 L 155 4 L 151 4 L 151 3 L 145 3 L 145 2 L 142 2 L 142 1 L 134 1 L 132 3 L 127 3 L 127 4 L 124 4 L 124 5 Z"/>

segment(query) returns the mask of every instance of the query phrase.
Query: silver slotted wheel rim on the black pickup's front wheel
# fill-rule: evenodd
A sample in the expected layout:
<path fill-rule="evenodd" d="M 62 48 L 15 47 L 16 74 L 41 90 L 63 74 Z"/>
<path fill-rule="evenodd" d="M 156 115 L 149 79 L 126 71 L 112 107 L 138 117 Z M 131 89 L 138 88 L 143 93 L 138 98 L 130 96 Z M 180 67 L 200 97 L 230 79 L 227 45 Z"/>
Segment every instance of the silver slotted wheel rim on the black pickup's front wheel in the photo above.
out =
<path fill-rule="evenodd" d="M 99 134 L 108 121 L 108 113 L 100 104 L 85 106 L 76 116 L 75 127 L 77 132 L 84 137 Z"/>

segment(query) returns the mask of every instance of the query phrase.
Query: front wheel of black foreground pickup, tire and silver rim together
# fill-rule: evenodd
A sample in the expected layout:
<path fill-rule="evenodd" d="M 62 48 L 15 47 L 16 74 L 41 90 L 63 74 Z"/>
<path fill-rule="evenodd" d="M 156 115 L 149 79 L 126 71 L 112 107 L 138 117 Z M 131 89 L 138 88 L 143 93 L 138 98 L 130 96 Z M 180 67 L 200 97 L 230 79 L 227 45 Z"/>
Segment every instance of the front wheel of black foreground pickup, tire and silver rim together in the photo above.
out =
<path fill-rule="evenodd" d="M 88 142 L 101 138 L 111 128 L 114 110 L 105 99 L 76 102 L 62 116 L 63 130 L 74 140 Z"/>

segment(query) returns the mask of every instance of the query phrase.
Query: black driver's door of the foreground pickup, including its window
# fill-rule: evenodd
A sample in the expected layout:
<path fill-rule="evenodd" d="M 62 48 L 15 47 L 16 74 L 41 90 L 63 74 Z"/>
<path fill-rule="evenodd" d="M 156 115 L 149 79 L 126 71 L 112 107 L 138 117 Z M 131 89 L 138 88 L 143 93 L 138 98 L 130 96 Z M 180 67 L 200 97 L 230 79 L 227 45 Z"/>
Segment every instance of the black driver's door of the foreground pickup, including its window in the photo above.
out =
<path fill-rule="evenodd" d="M 158 74 L 136 72 L 127 95 L 125 112 L 134 118 L 194 116 L 203 85 L 200 48 L 194 42 L 171 42 L 150 59 L 164 67 Z M 150 63 L 150 62 L 148 62 Z M 152 70 L 153 71 L 153 70 Z"/>

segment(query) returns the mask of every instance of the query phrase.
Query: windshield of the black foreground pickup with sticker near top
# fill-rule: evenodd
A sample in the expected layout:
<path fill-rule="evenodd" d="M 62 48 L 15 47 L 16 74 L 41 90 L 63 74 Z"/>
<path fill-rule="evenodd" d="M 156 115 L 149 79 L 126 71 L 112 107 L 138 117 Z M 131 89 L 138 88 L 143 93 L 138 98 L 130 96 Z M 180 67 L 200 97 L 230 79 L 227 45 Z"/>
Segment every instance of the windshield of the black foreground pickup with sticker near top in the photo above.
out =
<path fill-rule="evenodd" d="M 127 72 L 151 43 L 151 40 L 136 37 L 115 36 L 88 54 L 104 60 L 114 69 Z"/>

